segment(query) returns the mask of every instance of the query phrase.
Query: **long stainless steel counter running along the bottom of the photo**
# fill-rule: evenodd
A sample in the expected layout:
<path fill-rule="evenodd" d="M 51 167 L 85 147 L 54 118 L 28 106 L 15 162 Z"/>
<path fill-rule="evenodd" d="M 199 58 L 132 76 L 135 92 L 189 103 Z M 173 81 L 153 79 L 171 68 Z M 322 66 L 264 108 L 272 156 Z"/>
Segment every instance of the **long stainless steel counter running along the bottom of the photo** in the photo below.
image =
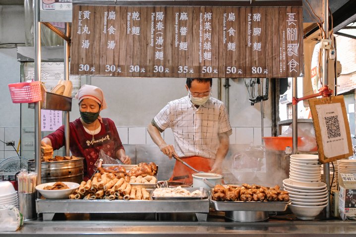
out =
<path fill-rule="evenodd" d="M 171 214 L 108 216 L 95 214 L 59 215 L 54 221 L 28 221 L 17 232 L 2 232 L 2 237 L 16 236 L 139 236 L 139 237 L 305 237 L 356 236 L 355 221 L 299 221 L 293 214 L 270 217 L 264 222 L 235 222 L 224 218 L 223 212 L 213 212 L 206 222 L 194 220 L 194 215 Z M 124 218 L 124 219 L 123 219 Z M 131 220 L 130 220 L 131 219 Z M 156 219 L 158 219 L 156 221 Z"/>

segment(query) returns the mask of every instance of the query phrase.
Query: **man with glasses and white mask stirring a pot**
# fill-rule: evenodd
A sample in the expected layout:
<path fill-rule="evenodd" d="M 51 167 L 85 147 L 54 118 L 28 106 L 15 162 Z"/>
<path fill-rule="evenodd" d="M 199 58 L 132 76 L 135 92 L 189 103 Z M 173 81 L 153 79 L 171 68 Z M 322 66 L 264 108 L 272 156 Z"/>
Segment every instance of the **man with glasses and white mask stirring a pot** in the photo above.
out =
<path fill-rule="evenodd" d="M 170 159 L 180 157 L 197 170 L 222 174 L 232 129 L 222 101 L 211 97 L 211 78 L 187 78 L 188 95 L 170 101 L 148 125 L 153 142 Z M 161 137 L 171 128 L 175 145 Z M 192 183 L 193 170 L 176 161 L 170 180 Z"/>

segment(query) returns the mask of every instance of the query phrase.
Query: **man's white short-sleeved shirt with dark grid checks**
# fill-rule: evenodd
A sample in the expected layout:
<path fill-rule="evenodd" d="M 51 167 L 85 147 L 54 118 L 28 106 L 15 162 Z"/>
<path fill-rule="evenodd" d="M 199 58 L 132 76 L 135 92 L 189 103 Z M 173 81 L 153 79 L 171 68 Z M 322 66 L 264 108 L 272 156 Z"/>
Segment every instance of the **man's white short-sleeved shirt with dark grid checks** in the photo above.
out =
<path fill-rule="evenodd" d="M 179 157 L 215 159 L 220 144 L 218 134 L 232 134 L 225 105 L 213 97 L 198 108 L 189 96 L 173 100 L 156 115 L 154 121 L 161 130 L 172 129 Z"/>

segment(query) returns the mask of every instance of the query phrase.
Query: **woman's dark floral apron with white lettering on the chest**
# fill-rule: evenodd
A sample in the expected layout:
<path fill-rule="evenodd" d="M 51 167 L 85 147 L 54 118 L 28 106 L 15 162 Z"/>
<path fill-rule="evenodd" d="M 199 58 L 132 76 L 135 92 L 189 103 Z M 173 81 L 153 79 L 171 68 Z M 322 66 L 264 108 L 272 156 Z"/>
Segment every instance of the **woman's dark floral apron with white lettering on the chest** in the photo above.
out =
<path fill-rule="evenodd" d="M 100 120 L 99 120 L 100 121 Z M 83 126 L 80 122 L 73 122 L 76 128 Z M 103 118 L 103 122 L 100 122 L 101 130 L 98 134 L 94 135 L 94 142 L 92 141 L 92 135 L 85 132 L 84 129 L 78 129 L 77 133 L 81 141 L 81 146 L 84 152 L 84 181 L 87 181 L 95 173 L 97 167 L 94 166 L 99 157 L 99 152 L 102 149 L 105 154 L 115 158 L 115 143 L 113 134 L 109 128 L 108 120 Z M 104 129 L 104 132 L 103 132 Z M 89 138 L 90 137 L 90 138 Z"/>

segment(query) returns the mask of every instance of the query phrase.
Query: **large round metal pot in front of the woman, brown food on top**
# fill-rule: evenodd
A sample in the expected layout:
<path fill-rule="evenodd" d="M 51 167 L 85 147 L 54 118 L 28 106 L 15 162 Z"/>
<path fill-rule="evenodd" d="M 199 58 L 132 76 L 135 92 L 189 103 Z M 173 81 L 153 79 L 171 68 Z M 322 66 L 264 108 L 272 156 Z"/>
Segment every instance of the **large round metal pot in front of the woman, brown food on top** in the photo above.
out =
<path fill-rule="evenodd" d="M 78 158 L 78 157 L 77 157 Z M 84 158 L 75 160 L 42 162 L 41 163 L 41 182 L 74 182 L 80 184 L 83 181 Z M 35 171 L 34 160 L 28 161 L 28 170 Z"/>

